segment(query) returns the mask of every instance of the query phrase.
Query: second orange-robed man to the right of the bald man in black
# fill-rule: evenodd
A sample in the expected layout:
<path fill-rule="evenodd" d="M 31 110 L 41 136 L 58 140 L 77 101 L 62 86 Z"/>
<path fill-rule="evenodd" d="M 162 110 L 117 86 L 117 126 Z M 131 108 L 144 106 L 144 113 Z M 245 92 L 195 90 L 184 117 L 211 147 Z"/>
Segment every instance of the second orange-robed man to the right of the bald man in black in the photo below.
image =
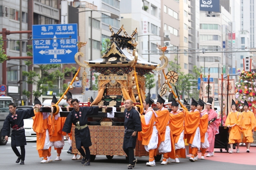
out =
<path fill-rule="evenodd" d="M 163 153 L 163 161 L 161 164 L 168 164 L 171 161 L 169 161 L 169 152 L 172 151 L 172 144 L 171 138 L 171 130 L 169 126 L 169 120 L 170 120 L 170 113 L 169 110 L 163 107 L 163 104 L 165 103 L 165 100 L 161 98 L 161 96 L 158 94 L 158 100 L 156 101 L 156 107 L 158 108 L 158 111 L 156 111 L 157 121 L 158 121 L 158 133 L 160 134 L 161 142 L 159 145 L 159 153 Z M 174 146 L 174 144 L 173 144 Z"/>

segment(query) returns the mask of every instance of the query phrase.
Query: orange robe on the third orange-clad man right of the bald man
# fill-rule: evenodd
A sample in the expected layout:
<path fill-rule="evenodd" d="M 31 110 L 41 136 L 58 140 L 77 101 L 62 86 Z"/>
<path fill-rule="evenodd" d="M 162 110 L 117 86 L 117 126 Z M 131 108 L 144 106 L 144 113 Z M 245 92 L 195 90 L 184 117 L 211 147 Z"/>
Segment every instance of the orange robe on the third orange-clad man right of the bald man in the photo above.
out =
<path fill-rule="evenodd" d="M 176 113 L 171 113 L 170 114 L 170 128 L 173 133 L 173 141 L 174 144 L 178 142 L 180 138 L 180 134 L 184 130 L 184 112 L 180 111 L 176 115 Z M 175 148 L 175 147 L 174 147 Z M 180 149 L 180 158 L 186 158 L 186 151 L 185 149 Z"/>

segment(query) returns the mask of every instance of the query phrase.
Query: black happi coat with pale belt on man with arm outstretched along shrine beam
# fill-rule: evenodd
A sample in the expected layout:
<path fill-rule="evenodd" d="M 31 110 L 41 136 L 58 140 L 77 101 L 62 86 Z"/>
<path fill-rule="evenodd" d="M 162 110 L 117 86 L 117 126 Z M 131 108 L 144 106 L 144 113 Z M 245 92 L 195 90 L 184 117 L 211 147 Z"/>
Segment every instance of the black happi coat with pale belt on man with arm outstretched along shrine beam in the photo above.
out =
<path fill-rule="evenodd" d="M 98 115 L 98 109 L 99 109 L 98 106 L 80 107 L 79 112 L 76 112 L 75 109 L 73 109 L 67 116 L 62 131 L 66 133 L 70 133 L 72 123 L 76 125 L 76 122 L 78 121 L 80 126 L 86 125 L 88 122 L 87 115 Z M 83 144 L 84 148 L 92 145 L 90 130 L 88 126 L 80 130 L 75 129 L 75 138 L 76 138 L 76 148 L 78 149 L 81 147 L 81 143 Z"/>

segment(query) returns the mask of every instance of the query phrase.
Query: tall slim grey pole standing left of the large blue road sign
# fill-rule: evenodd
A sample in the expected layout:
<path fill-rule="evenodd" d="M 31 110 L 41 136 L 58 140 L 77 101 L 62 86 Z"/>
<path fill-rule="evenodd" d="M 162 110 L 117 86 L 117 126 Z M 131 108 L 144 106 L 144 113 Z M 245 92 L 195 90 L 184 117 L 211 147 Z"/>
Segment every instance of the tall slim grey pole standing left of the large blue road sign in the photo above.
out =
<path fill-rule="evenodd" d="M 22 0 L 20 0 L 20 31 L 22 31 Z M 22 57 L 22 34 L 20 34 L 20 57 Z M 23 99 L 23 84 L 22 84 L 22 59 L 20 59 L 20 100 Z M 21 102 L 21 101 L 20 101 Z M 21 105 L 21 103 L 20 103 Z"/>

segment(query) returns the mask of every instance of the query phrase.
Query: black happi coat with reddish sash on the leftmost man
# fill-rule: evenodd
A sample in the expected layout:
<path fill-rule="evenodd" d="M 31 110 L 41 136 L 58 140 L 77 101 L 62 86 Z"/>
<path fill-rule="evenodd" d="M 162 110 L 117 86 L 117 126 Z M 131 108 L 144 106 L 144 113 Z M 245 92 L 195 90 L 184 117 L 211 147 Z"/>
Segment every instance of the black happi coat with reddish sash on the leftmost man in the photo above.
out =
<path fill-rule="evenodd" d="M 17 116 L 16 116 L 17 115 Z M 33 108 L 28 110 L 16 110 L 15 116 L 11 113 L 6 116 L 4 126 L 2 129 L 2 136 L 10 136 L 10 128 L 19 128 L 24 126 L 23 119 L 35 116 Z M 11 131 L 11 146 L 24 146 L 26 145 L 25 129 Z"/>

